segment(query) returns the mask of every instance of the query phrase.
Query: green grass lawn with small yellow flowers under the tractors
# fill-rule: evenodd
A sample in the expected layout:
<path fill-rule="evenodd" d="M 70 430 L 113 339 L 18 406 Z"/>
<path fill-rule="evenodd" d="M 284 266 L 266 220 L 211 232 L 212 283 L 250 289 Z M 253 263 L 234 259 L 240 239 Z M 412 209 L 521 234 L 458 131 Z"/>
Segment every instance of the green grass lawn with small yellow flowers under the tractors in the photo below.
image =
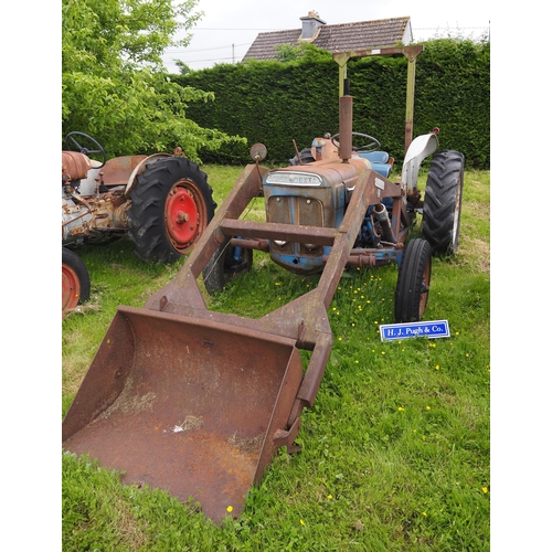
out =
<path fill-rule="evenodd" d="M 240 169 L 204 170 L 220 204 Z M 382 343 L 396 267 L 346 270 L 329 308 L 331 357 L 301 415 L 302 449 L 278 453 L 240 519 L 217 527 L 192 502 L 124 487 L 116 473 L 64 454 L 63 550 L 490 550 L 489 180 L 466 173 L 459 252 L 433 264 L 424 318 L 447 319 L 450 338 Z M 255 204 L 250 216 L 262 213 Z M 62 414 L 117 305 L 144 305 L 183 264 L 144 263 L 128 240 L 81 253 L 92 300 L 63 321 Z M 317 278 L 255 252 L 253 270 L 210 308 L 256 318 Z"/>

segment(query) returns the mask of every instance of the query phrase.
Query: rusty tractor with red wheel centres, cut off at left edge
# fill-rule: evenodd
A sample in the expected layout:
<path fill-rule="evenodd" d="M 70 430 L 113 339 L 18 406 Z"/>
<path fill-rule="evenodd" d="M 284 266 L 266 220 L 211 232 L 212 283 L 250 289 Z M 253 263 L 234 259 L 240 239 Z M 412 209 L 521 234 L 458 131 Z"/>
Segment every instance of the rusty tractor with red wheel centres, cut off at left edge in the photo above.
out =
<path fill-rule="evenodd" d="M 181 151 L 107 160 L 95 138 L 70 132 L 62 151 L 62 312 L 89 297 L 81 245 L 128 235 L 145 261 L 174 262 L 215 208 L 206 174 Z"/>

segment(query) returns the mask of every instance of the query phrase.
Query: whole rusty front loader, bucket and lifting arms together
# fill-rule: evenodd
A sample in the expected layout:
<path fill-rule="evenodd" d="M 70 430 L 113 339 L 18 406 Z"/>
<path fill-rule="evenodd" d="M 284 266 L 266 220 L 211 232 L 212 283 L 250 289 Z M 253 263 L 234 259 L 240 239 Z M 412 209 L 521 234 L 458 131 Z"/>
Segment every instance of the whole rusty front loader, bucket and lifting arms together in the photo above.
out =
<path fill-rule="evenodd" d="M 267 172 L 248 164 L 176 278 L 144 308 L 118 308 L 63 422 L 64 449 L 123 470 L 123 482 L 193 498 L 215 521 L 229 506 L 240 516 L 275 452 L 294 449 L 330 354 L 327 310 L 363 215 L 381 193 L 401 193 L 364 166 L 338 229 L 238 220 Z M 254 320 L 210 311 L 198 285 L 229 236 L 331 252 L 315 289 Z M 311 351 L 306 367 L 299 350 Z"/>

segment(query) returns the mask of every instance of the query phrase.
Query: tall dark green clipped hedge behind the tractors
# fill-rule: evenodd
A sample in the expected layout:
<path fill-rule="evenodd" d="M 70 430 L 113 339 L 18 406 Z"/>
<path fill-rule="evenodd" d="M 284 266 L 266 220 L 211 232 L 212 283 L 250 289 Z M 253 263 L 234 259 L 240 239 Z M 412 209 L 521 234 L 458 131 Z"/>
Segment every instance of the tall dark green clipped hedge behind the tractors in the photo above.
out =
<path fill-rule="evenodd" d="M 414 136 L 439 127 L 443 149 L 466 156 L 466 166 L 490 164 L 490 43 L 438 39 L 424 43 L 416 61 Z M 407 61 L 375 56 L 348 63 L 353 130 L 376 137 L 397 161 L 404 157 Z M 261 141 L 268 161 L 285 163 L 312 138 L 339 130 L 339 72 L 330 54 L 280 62 L 250 62 L 172 75 L 182 86 L 214 92 L 192 103 L 187 116 L 205 128 L 247 138 L 247 146 L 201 152 L 203 161 L 250 162 Z"/>

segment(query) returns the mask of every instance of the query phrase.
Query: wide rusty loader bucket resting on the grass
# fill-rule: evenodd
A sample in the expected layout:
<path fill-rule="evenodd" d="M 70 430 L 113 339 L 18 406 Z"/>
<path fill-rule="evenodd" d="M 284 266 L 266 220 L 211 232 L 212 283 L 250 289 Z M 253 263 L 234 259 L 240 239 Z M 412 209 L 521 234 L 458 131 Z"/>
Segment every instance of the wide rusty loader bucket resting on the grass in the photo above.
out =
<path fill-rule="evenodd" d="M 302 378 L 290 339 L 119 307 L 64 446 L 221 519 L 259 481 Z"/>

